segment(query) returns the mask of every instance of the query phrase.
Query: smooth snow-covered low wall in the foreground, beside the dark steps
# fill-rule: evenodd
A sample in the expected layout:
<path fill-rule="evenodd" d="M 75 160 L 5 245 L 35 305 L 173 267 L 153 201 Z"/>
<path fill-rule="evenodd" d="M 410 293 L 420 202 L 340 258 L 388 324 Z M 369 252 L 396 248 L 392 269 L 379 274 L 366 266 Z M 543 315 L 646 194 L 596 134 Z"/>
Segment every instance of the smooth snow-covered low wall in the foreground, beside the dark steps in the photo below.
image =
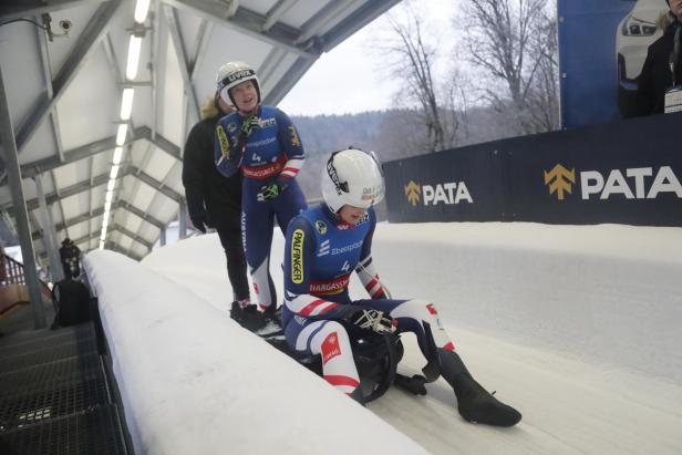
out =
<path fill-rule="evenodd" d="M 425 453 L 186 287 L 112 251 L 84 266 L 137 454 Z"/>

